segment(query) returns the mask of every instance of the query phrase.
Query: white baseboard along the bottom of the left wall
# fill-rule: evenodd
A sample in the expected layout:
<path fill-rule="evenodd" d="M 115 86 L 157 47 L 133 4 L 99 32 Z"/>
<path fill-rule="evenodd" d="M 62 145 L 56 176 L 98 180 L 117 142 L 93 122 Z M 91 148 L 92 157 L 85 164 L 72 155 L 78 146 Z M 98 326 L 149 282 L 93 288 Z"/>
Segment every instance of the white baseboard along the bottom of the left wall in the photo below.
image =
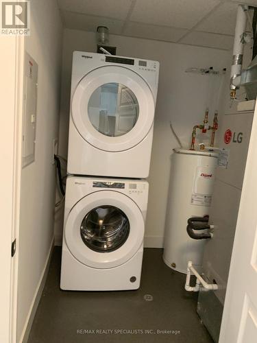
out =
<path fill-rule="evenodd" d="M 34 320 L 34 316 L 36 314 L 36 309 L 38 308 L 38 303 L 39 303 L 39 300 L 42 296 L 42 291 L 45 287 L 45 281 L 47 280 L 47 273 L 49 270 L 51 255 L 52 255 L 53 246 L 54 246 L 53 242 L 54 242 L 54 239 L 52 239 L 52 241 L 51 241 L 51 246 L 50 246 L 50 249 L 49 249 L 49 252 L 47 255 L 47 261 L 45 262 L 45 267 L 42 270 L 42 274 L 40 276 L 38 286 L 36 287 L 36 292 L 34 293 L 32 305 L 30 306 L 29 313 L 27 314 L 27 319 L 25 321 L 23 332 L 21 334 L 21 339 L 19 340 L 20 343 L 27 343 L 27 340 L 29 338 L 29 333 L 30 333 L 30 330 L 32 328 L 32 323 Z"/>

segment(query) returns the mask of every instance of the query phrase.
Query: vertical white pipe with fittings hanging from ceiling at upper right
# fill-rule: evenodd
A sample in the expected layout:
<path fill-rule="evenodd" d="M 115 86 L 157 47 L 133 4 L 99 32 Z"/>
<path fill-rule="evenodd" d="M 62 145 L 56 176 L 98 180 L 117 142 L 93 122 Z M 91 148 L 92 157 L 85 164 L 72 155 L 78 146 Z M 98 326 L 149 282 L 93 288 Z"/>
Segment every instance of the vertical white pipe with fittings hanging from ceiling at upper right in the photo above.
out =
<path fill-rule="evenodd" d="M 234 32 L 234 47 L 232 56 L 232 67 L 230 75 L 230 97 L 236 98 L 236 89 L 240 86 L 243 48 L 245 44 L 245 29 L 247 23 L 247 5 L 238 5 L 236 15 L 236 29 Z"/>

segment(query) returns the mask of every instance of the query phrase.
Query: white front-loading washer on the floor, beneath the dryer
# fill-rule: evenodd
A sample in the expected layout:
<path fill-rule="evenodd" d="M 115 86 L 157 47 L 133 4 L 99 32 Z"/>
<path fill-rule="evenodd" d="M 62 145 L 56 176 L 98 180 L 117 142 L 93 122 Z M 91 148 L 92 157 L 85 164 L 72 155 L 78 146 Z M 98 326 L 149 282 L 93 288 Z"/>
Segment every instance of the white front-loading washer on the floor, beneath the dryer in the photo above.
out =
<path fill-rule="evenodd" d="M 148 183 L 69 176 L 61 289 L 138 289 Z"/>

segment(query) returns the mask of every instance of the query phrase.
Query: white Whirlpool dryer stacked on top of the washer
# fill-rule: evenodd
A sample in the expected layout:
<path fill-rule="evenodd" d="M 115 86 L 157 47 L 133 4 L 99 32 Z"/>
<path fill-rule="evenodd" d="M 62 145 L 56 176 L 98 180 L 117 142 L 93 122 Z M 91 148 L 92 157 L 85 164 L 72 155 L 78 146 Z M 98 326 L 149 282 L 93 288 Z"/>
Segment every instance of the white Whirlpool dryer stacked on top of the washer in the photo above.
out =
<path fill-rule="evenodd" d="M 68 173 L 147 178 L 159 63 L 73 53 Z"/>

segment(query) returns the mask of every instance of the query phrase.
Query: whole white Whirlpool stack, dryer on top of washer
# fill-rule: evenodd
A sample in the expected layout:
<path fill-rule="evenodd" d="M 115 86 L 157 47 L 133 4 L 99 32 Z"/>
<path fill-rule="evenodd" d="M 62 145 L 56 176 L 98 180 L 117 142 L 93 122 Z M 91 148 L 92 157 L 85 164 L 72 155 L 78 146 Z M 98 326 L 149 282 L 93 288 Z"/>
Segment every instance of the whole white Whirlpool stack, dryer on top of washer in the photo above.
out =
<path fill-rule="evenodd" d="M 140 285 L 158 71 L 73 53 L 62 289 Z"/>

